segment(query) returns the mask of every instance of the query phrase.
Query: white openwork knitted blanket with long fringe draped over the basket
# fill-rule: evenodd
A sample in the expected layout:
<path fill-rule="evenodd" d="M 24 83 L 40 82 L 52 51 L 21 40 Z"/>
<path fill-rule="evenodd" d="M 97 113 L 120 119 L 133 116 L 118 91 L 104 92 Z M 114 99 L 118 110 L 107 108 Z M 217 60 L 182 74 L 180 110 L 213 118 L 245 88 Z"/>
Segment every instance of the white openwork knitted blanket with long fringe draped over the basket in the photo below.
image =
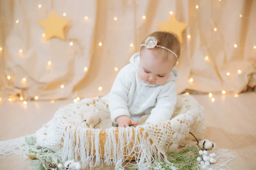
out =
<path fill-rule="evenodd" d="M 60 151 L 63 161 L 75 159 L 80 161 L 84 168 L 101 164 L 99 140 L 101 130 L 88 128 L 83 122 L 83 113 L 92 109 L 108 111 L 108 96 L 87 98 L 60 108 L 53 119 L 34 134 L 37 139 L 36 145 L 55 152 Z M 140 132 L 142 127 L 145 130 Z M 146 167 L 154 160 L 167 161 L 164 152 L 177 149 L 189 132 L 201 139 L 205 128 L 203 107 L 192 96 L 186 94 L 178 96 L 175 112 L 169 121 L 135 128 L 119 128 L 118 141 L 115 138 L 116 127 L 106 129 L 104 161 L 107 165 L 114 163 L 116 167 L 121 167 L 125 156 L 128 156 L 127 153 L 134 151 L 135 148 L 136 152 L 140 153 L 136 156 L 139 167 Z M 138 136 L 134 141 L 132 141 L 133 130 L 134 135 Z M 86 135 L 88 131 L 90 136 Z M 89 139 L 93 139 L 91 148 L 88 144 Z M 150 139 L 153 144 L 150 144 Z M 133 148 L 127 152 L 124 146 L 131 142 Z M 25 156 L 24 150 L 29 147 L 31 146 L 26 144 L 24 137 L 3 141 L 0 142 L 0 154 L 7 156 L 16 153 Z M 96 150 L 96 153 L 93 155 L 89 152 L 90 149 Z M 96 161 L 93 162 L 93 159 Z"/>

